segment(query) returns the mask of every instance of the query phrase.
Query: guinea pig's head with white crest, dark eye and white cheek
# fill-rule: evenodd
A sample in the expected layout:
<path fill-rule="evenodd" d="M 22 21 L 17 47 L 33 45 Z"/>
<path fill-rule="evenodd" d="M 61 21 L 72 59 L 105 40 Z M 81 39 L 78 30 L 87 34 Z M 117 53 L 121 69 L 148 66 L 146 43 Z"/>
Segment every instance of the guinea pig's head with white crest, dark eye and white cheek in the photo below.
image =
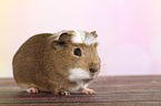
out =
<path fill-rule="evenodd" d="M 95 31 L 61 31 L 51 45 L 60 70 L 67 70 L 70 81 L 93 80 L 100 72 Z"/>

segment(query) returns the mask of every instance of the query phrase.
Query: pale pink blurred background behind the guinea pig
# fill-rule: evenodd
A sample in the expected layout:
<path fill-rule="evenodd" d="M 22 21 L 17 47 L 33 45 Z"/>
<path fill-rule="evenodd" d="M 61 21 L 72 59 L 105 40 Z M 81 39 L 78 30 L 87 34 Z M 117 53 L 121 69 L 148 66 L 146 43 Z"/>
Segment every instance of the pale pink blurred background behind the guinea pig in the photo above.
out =
<path fill-rule="evenodd" d="M 0 77 L 31 35 L 97 30 L 100 75 L 161 74 L 161 0 L 0 0 Z"/>

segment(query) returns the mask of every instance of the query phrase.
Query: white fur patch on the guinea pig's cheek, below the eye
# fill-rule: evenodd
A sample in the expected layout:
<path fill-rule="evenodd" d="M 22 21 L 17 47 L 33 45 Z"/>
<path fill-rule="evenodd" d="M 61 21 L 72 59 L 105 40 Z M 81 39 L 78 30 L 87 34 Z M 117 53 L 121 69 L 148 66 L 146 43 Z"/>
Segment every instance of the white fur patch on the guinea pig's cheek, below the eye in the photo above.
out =
<path fill-rule="evenodd" d="M 78 82 L 85 78 L 90 78 L 90 74 L 82 68 L 72 68 L 69 71 L 69 80 L 72 82 Z"/>

